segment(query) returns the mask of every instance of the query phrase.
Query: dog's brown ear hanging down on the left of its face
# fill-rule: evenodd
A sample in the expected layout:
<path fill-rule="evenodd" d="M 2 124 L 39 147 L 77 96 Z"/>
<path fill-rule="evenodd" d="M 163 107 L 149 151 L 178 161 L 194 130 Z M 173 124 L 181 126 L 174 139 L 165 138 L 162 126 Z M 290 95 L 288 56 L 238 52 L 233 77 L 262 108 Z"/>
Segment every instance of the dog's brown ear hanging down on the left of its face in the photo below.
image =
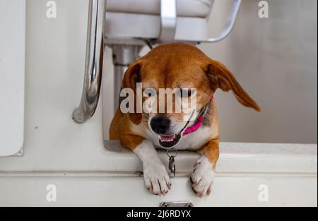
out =
<path fill-rule="evenodd" d="M 135 61 L 129 66 L 124 74 L 122 81 L 122 89 L 130 88 L 134 90 L 134 113 L 129 113 L 129 118 L 134 124 L 141 124 L 142 114 L 137 113 L 137 97 L 136 97 L 136 84 L 141 82 L 141 61 Z"/>

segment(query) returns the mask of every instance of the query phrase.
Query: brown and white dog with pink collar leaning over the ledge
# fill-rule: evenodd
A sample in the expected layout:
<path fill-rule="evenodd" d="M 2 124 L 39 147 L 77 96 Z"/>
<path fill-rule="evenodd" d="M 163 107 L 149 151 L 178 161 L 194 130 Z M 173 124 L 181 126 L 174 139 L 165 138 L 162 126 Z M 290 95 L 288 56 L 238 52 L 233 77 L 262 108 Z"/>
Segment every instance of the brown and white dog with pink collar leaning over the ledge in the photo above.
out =
<path fill-rule="evenodd" d="M 211 95 L 218 88 L 226 92 L 232 90 L 244 106 L 260 111 L 259 106 L 237 83 L 228 68 L 190 44 L 162 44 L 135 61 L 124 75 L 122 88 L 136 92 L 136 83 L 142 83 L 143 90 L 196 88 L 196 117 L 200 117 L 202 109 L 207 110 L 202 124 L 193 133 L 184 135 L 184 128 L 196 123 L 184 121 L 184 113 L 122 114 L 118 109 L 110 128 L 110 139 L 119 140 L 139 156 L 143 162 L 146 188 L 156 195 L 165 195 L 171 182 L 155 148 L 173 147 L 175 150 L 201 153 L 191 177 L 192 189 L 198 196 L 209 195 L 220 142 L 218 113 Z M 189 96 L 192 96 L 191 93 Z"/>

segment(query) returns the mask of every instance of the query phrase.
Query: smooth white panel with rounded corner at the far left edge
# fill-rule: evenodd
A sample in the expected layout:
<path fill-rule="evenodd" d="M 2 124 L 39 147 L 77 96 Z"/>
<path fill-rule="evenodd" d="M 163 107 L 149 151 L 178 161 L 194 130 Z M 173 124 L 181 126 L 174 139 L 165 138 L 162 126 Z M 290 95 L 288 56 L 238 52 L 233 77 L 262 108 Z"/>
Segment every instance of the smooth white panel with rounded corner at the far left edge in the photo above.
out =
<path fill-rule="evenodd" d="M 23 147 L 25 1 L 0 1 L 0 157 Z"/>

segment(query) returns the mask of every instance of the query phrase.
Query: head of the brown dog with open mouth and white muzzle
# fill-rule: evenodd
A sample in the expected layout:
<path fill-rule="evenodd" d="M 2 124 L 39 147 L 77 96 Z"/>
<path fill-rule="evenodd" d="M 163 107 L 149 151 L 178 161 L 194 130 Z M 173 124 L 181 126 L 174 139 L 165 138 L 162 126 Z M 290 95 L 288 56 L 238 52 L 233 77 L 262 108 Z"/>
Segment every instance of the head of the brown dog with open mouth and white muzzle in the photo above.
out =
<path fill-rule="evenodd" d="M 211 95 L 218 88 L 226 92 L 232 90 L 241 104 L 260 111 L 228 68 L 190 44 L 162 44 L 131 64 L 122 88 L 131 88 L 136 94 L 137 83 L 142 85 L 142 102 L 148 99 L 148 95 L 152 100 L 146 104 L 148 112 L 137 113 L 136 103 L 140 102 L 136 98 L 135 112 L 129 113 L 129 117 L 134 124 L 144 124 L 156 133 L 163 148 L 172 148 L 179 143 L 184 129 L 192 124 L 190 120 L 211 102 Z M 172 91 L 172 97 L 163 93 L 164 90 Z M 180 112 L 176 104 L 183 107 L 184 101 L 187 112 L 183 108 Z"/>

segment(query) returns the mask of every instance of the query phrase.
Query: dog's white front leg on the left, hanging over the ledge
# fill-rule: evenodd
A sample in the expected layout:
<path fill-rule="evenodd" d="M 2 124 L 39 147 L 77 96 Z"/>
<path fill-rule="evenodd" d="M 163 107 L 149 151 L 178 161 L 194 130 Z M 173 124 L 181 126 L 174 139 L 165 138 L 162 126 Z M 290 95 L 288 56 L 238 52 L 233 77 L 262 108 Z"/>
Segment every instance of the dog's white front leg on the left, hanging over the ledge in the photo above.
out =
<path fill-rule="evenodd" d="M 155 195 L 165 195 L 171 187 L 170 178 L 153 144 L 150 141 L 143 140 L 134 149 L 134 153 L 143 162 L 143 179 L 146 188 Z"/>

